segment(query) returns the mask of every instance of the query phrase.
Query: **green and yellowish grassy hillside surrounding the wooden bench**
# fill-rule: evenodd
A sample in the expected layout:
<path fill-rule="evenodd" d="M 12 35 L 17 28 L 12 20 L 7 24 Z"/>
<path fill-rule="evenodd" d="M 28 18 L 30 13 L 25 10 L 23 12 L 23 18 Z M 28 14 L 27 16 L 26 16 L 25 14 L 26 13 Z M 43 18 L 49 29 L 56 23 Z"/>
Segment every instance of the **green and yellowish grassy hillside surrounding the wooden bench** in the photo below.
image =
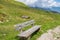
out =
<path fill-rule="evenodd" d="M 3 17 L 1 14 L 6 16 Z M 0 20 L 3 18 L 4 21 L 0 23 L 0 40 L 17 40 L 16 35 L 19 32 L 14 29 L 14 25 L 31 19 L 34 19 L 36 24 L 42 25 L 41 30 L 32 36 L 31 40 L 35 40 L 48 29 L 60 25 L 60 14 L 28 8 L 22 3 L 11 0 L 0 0 L 0 15 Z M 22 15 L 30 16 L 30 19 L 23 19 L 20 17 Z"/>

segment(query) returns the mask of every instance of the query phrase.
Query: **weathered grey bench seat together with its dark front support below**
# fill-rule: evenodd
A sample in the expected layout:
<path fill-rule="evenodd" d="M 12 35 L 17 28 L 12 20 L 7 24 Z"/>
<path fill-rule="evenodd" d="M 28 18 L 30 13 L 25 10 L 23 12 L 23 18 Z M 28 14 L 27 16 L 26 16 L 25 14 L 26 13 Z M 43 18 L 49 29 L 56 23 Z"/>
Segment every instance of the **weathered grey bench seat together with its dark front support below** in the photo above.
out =
<path fill-rule="evenodd" d="M 30 36 L 37 32 L 37 30 L 40 29 L 40 25 L 33 26 L 32 28 L 22 32 L 21 34 L 18 34 L 18 37 L 20 37 L 20 40 L 30 40 Z"/>

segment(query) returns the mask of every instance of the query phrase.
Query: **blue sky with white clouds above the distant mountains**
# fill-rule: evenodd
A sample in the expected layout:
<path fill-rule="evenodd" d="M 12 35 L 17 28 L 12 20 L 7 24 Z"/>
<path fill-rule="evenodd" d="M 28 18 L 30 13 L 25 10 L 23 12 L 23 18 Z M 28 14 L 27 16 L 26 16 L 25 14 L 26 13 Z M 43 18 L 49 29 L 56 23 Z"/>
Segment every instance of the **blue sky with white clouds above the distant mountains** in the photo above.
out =
<path fill-rule="evenodd" d="M 60 0 L 16 0 L 31 7 L 60 7 Z"/>

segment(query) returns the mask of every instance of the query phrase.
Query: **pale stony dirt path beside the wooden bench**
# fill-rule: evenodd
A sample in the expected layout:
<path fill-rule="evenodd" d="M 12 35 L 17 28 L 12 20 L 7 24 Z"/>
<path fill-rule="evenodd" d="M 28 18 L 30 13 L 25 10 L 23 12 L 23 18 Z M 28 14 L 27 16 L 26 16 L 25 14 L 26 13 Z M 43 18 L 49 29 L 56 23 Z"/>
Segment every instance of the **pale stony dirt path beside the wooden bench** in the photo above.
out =
<path fill-rule="evenodd" d="M 60 40 L 60 26 L 50 29 L 44 33 L 37 40 Z"/>

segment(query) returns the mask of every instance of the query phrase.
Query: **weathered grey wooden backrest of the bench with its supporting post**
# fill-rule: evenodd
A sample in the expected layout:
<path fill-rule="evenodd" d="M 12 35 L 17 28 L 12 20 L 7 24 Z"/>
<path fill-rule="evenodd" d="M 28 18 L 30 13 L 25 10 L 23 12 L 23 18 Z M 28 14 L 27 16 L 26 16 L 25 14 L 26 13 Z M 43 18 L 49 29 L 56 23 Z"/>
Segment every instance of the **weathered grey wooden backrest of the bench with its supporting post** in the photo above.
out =
<path fill-rule="evenodd" d="M 14 26 L 15 26 L 16 30 L 18 30 L 18 31 L 21 30 L 21 32 L 22 32 L 22 28 L 27 27 L 29 25 L 33 26 L 34 23 L 35 23 L 34 20 L 30 20 L 30 21 L 27 21 L 27 22 L 24 22 L 24 23 L 21 23 L 21 24 L 17 24 L 17 25 L 14 25 Z"/>

